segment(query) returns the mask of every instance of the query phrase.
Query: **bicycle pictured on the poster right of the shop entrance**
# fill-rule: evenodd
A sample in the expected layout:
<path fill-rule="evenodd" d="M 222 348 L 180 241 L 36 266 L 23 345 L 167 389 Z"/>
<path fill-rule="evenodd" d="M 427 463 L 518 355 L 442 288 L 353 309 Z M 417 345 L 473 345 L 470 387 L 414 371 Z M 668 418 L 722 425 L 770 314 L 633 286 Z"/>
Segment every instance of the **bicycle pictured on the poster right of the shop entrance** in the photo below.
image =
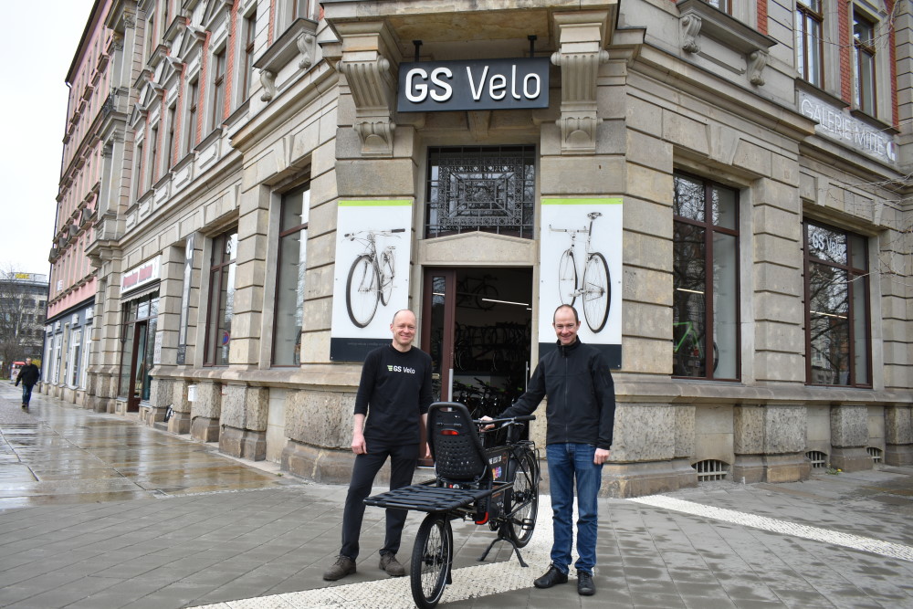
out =
<path fill-rule="evenodd" d="M 605 320 L 609 317 L 609 305 L 612 302 L 612 286 L 609 283 L 609 266 L 605 262 L 605 257 L 600 252 L 594 252 L 592 249 L 593 242 L 593 222 L 601 212 L 590 212 L 586 217 L 590 218 L 590 226 L 586 228 L 554 228 L 551 225 L 549 230 L 555 233 L 568 233 L 571 236 L 571 247 L 568 247 L 561 254 L 561 260 L 558 262 L 558 291 L 561 297 L 561 304 L 571 305 L 578 297 L 583 299 L 583 318 L 586 325 L 593 332 L 598 332 L 605 326 Z M 586 246 L 583 254 L 583 274 L 581 277 L 577 273 L 577 256 L 575 255 L 577 247 L 577 235 L 586 235 Z"/>

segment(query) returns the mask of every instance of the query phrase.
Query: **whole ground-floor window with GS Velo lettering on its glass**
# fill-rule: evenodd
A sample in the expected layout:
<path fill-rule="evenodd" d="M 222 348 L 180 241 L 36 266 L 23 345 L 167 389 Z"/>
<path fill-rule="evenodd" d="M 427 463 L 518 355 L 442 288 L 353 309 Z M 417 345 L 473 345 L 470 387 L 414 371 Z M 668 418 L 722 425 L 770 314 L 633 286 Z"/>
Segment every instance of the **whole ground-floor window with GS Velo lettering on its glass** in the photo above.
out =
<path fill-rule="evenodd" d="M 871 386 L 866 238 L 813 222 L 804 229 L 807 381 Z"/>

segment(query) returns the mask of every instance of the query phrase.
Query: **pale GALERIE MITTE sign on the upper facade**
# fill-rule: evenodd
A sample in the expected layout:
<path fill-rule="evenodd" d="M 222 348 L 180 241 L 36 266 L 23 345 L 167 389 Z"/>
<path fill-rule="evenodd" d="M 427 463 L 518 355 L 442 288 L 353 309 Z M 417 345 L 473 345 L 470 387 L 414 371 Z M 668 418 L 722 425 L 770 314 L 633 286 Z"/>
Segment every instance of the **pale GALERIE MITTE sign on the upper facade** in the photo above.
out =
<path fill-rule="evenodd" d="M 815 131 L 885 163 L 897 163 L 897 143 L 884 131 L 871 127 L 844 110 L 818 100 L 804 91 L 799 92 L 799 111 L 813 121 L 818 121 Z"/>

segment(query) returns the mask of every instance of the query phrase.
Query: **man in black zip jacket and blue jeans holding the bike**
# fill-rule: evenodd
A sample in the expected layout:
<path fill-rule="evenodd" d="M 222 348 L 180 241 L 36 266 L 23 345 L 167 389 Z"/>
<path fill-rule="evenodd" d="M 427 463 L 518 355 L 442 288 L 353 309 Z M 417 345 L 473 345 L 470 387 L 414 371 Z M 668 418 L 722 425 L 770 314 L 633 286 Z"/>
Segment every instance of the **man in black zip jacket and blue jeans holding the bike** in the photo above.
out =
<path fill-rule="evenodd" d="M 577 488 L 577 593 L 590 596 L 596 566 L 597 502 L 603 463 L 612 448 L 615 391 L 612 373 L 602 353 L 577 338 L 577 310 L 561 305 L 552 324 L 558 348 L 536 366 L 525 394 L 499 417 L 530 415 L 548 395 L 545 436 L 549 461 L 552 529 L 551 566 L 537 588 L 568 581 L 573 539 L 573 496 Z"/>

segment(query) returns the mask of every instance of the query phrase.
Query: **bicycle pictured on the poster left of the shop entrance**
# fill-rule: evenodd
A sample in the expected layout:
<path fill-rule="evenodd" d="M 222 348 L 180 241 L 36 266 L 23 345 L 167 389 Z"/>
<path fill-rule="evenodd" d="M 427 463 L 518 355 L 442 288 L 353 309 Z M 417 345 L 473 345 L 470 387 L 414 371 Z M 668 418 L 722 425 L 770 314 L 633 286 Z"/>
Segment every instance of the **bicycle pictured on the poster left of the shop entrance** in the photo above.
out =
<path fill-rule="evenodd" d="M 394 289 L 396 246 L 387 246 L 377 252 L 378 236 L 399 236 L 405 228 L 393 230 L 362 230 L 348 233 L 344 238 L 358 241 L 364 251 L 355 257 L 345 284 L 345 306 L 349 319 L 358 328 L 364 328 L 374 319 L 377 303 L 386 306 Z M 362 236 L 363 235 L 363 236 Z"/>

